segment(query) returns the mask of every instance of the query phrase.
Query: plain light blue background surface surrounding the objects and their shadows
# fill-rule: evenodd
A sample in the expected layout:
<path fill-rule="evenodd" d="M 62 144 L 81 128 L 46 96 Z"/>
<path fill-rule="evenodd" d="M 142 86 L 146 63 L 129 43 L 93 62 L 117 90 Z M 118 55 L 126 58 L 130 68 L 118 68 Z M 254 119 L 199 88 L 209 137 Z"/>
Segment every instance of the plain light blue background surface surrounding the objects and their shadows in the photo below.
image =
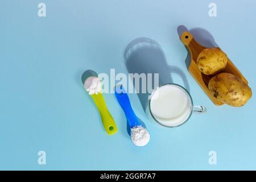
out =
<path fill-rule="evenodd" d="M 38 3 L 47 16 L 38 17 Z M 210 2 L 217 17 L 208 16 Z M 176 28 L 206 28 L 256 86 L 256 1 L 86 0 L 0 2 L 0 169 L 256 169 L 255 97 L 243 107 L 215 106 L 187 72 Z M 139 37 L 156 40 L 167 61 L 185 72 L 195 104 L 179 128 L 147 121 L 136 94 L 131 104 L 151 141 L 136 147 L 114 94 L 105 94 L 118 133 L 108 136 L 81 75 L 127 73 L 123 51 Z M 177 84 L 181 84 L 174 77 Z M 38 164 L 38 151 L 47 164 Z M 209 165 L 208 152 L 217 152 Z"/>

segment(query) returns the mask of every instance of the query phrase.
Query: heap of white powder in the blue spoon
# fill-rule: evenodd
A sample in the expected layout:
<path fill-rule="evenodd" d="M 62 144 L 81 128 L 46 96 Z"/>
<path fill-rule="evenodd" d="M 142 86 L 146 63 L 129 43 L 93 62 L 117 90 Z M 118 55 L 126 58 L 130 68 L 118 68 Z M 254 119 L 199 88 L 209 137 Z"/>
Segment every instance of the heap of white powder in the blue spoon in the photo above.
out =
<path fill-rule="evenodd" d="M 131 140 L 136 146 L 146 146 L 150 140 L 150 134 L 144 127 L 136 126 L 131 129 Z"/>

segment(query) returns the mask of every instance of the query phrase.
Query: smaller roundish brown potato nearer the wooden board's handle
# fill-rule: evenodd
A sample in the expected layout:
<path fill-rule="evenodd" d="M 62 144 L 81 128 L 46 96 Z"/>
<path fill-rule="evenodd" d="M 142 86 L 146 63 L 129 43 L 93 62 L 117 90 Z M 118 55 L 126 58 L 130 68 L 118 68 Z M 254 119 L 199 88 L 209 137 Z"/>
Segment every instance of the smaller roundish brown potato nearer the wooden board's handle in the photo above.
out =
<path fill-rule="evenodd" d="M 226 67 L 228 56 L 220 49 L 207 48 L 200 52 L 196 64 L 205 75 L 213 75 Z"/>

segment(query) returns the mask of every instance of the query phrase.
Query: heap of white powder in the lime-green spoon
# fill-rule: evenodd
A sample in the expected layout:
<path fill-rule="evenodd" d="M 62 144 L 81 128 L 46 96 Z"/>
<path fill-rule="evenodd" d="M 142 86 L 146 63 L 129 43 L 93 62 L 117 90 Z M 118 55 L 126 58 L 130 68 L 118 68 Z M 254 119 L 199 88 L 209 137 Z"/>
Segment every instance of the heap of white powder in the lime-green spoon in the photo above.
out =
<path fill-rule="evenodd" d="M 84 82 L 84 88 L 89 93 L 89 95 L 92 94 L 98 94 L 101 92 L 101 81 L 98 77 L 89 77 Z"/>

